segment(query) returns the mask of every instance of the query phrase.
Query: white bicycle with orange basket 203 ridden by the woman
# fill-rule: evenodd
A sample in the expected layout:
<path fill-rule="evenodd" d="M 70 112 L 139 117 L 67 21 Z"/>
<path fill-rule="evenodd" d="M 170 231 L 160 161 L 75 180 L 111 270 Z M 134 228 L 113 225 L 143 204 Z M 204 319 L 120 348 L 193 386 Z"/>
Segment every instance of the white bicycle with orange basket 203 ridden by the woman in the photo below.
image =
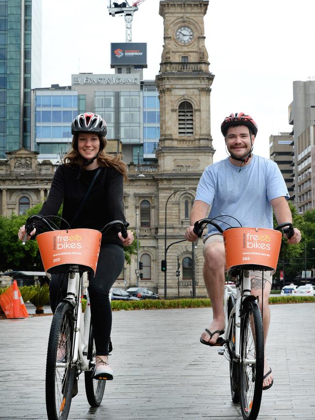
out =
<path fill-rule="evenodd" d="M 91 407 L 98 407 L 101 404 L 106 380 L 108 379 L 107 377 L 93 378 L 95 344 L 88 288 L 86 290 L 86 309 L 84 314 L 82 313 L 83 273 L 91 271 L 92 267 L 94 267 L 94 271 L 96 269 L 97 249 L 99 251 L 101 234 L 93 229 L 68 229 L 58 231 L 58 236 L 56 236 L 57 226 L 51 220 L 48 219 L 48 221 L 47 218 L 38 215 L 33 215 L 27 220 L 27 233 L 33 230 L 35 220 L 40 220 L 51 230 L 37 236 L 45 271 L 48 273 L 67 273 L 68 275 L 66 296 L 57 306 L 52 319 L 46 363 L 47 417 L 48 420 L 65 420 L 69 414 L 72 398 L 78 393 L 78 378 L 82 372 L 84 372 L 87 400 Z M 51 225 L 54 225 L 54 227 Z M 103 229 L 108 230 L 111 226 L 119 226 L 123 237 L 127 236 L 126 225 L 123 222 L 115 220 L 104 226 Z M 78 249 L 82 250 L 84 248 L 82 242 L 80 242 L 79 248 L 74 246 L 76 243 L 78 244 L 76 241 L 82 241 L 80 235 L 84 230 L 89 231 L 85 232 L 88 234 L 88 237 L 84 238 L 86 241 L 97 242 L 94 263 L 87 263 L 84 255 L 84 251 L 91 248 L 89 244 L 83 249 L 83 252 L 78 252 Z M 78 231 L 80 231 L 79 234 Z M 59 238 L 67 238 L 66 241 L 68 242 L 61 242 L 62 240 Z M 26 241 L 26 238 L 24 241 Z M 60 246 L 56 246 L 56 243 Z M 56 248 L 65 248 L 64 243 L 70 243 L 71 246 L 67 249 L 72 251 L 56 252 Z M 49 256 L 47 257 L 49 244 L 53 244 L 51 249 L 54 250 L 54 254 L 50 255 L 51 253 L 48 252 Z M 74 249 L 75 251 L 73 251 Z M 74 263 L 74 260 L 77 263 Z M 45 265 L 45 263 L 49 265 L 47 261 L 51 261 L 51 267 L 47 268 Z M 111 348 L 109 350 L 111 351 Z"/>

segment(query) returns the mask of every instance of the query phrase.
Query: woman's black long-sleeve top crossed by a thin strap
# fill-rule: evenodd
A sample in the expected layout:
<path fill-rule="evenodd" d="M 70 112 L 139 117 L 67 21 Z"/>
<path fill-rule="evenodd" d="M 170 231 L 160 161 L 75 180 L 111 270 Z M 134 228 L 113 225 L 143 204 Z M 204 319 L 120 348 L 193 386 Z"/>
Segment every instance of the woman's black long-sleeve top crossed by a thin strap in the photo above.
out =
<path fill-rule="evenodd" d="M 47 200 L 39 214 L 43 216 L 56 215 L 63 203 L 62 217 L 72 228 L 83 227 L 100 230 L 113 220 L 125 222 L 123 175 L 113 167 L 102 167 L 78 217 L 72 223 L 97 169 L 89 171 L 80 170 L 77 165 L 70 167 L 62 164 L 58 166 Z M 37 223 L 36 226 L 41 230 Z M 62 222 L 61 228 L 66 227 Z M 102 236 L 102 243 L 108 242 L 122 245 L 115 227 L 110 228 Z"/>

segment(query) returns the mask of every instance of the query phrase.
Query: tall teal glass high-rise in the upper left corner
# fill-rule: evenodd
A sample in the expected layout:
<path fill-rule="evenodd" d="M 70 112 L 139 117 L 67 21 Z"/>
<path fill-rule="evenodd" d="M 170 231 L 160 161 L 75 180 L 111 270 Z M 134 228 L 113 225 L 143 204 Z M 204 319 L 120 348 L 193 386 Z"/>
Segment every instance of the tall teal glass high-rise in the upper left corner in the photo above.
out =
<path fill-rule="evenodd" d="M 41 0 L 0 0 L 0 159 L 31 149 L 31 88 L 41 81 Z"/>

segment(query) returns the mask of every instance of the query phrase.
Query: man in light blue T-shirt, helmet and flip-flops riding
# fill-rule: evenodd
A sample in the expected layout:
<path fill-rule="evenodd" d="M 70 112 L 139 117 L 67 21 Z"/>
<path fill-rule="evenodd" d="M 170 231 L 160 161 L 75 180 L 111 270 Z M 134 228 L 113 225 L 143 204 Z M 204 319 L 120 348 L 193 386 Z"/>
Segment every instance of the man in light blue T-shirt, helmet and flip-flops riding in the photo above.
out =
<path fill-rule="evenodd" d="M 257 125 L 250 115 L 231 113 L 221 124 L 225 147 L 229 157 L 205 168 L 200 178 L 195 202 L 190 213 L 190 227 L 186 239 L 194 242 L 197 235 L 193 225 L 197 220 L 206 217 L 211 206 L 209 218 L 230 215 L 244 227 L 261 227 L 272 229 L 272 210 L 278 224 L 292 222 L 291 210 L 287 199 L 289 194 L 284 178 L 275 162 L 252 154 L 257 135 Z M 227 217 L 220 217 L 227 221 Z M 218 219 L 216 223 L 223 229 L 226 225 Z M 288 243 L 299 243 L 301 233 L 294 229 L 294 235 Z M 213 321 L 203 332 L 200 341 L 209 346 L 218 345 L 217 339 L 224 333 L 223 293 L 225 282 L 225 253 L 223 237 L 214 226 L 208 225 L 204 239 L 203 254 L 205 286 L 211 300 Z M 259 296 L 260 307 L 263 302 L 264 345 L 266 344 L 270 310 L 269 293 L 272 284 L 270 272 L 252 272 L 252 294 Z M 264 291 L 264 293 L 263 293 Z M 263 389 L 273 385 L 273 375 L 268 364 L 266 353 L 264 361 Z"/>

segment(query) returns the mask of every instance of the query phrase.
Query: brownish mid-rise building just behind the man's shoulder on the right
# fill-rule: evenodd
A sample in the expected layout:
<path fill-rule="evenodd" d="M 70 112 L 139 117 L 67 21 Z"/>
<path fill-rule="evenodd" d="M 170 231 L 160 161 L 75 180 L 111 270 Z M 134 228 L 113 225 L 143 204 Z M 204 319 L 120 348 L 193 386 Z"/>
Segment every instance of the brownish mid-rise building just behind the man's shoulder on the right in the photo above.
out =
<path fill-rule="evenodd" d="M 269 137 L 270 159 L 277 163 L 284 177 L 290 196 L 294 196 L 293 185 L 293 136 L 290 133 L 280 133 Z"/>

